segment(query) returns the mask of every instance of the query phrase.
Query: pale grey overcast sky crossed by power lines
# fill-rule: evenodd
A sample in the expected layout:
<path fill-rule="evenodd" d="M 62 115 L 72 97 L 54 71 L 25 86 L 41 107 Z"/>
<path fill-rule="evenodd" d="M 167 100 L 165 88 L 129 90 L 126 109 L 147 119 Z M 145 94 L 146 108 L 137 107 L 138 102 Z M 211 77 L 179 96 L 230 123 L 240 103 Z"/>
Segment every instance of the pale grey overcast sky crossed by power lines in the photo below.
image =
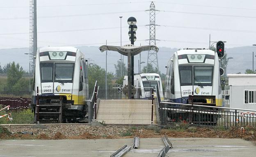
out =
<path fill-rule="evenodd" d="M 37 0 L 38 46 L 128 43 L 127 19 L 137 19 L 135 45 L 147 45 L 150 1 Z M 208 48 L 211 40 L 226 47 L 256 44 L 255 0 L 155 0 L 157 46 Z M 30 0 L 1 0 L 0 49 L 29 47 Z M 1 53 L 0 55 L 7 55 Z M 26 56 L 24 56 L 26 57 Z"/>

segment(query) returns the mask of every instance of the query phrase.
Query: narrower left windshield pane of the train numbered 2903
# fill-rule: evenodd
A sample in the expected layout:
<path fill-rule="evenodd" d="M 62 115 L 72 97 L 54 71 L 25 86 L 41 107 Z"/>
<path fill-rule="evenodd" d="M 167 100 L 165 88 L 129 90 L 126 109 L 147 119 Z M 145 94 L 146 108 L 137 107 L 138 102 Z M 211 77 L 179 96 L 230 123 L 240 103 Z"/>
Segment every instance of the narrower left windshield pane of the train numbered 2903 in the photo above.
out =
<path fill-rule="evenodd" d="M 53 82 L 53 63 L 41 63 L 41 82 Z"/>

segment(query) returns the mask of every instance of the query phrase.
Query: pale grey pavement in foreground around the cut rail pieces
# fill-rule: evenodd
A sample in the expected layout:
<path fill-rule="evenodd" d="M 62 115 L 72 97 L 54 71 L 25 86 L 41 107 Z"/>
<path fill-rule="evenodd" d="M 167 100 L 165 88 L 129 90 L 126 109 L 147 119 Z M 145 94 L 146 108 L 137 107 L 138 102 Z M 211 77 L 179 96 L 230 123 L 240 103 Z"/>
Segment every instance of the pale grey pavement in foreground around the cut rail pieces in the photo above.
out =
<path fill-rule="evenodd" d="M 255 157 L 256 144 L 242 139 L 169 138 L 172 157 Z M 0 157 L 110 157 L 133 139 L 1 140 Z M 139 148 L 123 157 L 157 157 L 161 138 L 139 140 Z M 167 155 L 166 155 L 167 156 Z"/>

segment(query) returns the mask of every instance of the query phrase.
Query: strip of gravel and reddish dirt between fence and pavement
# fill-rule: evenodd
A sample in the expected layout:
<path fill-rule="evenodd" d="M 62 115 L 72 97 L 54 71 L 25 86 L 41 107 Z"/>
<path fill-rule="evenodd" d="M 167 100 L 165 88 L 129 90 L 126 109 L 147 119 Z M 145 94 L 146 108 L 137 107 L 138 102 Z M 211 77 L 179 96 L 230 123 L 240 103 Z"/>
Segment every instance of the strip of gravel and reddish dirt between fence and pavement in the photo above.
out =
<path fill-rule="evenodd" d="M 43 126 L 43 125 L 42 125 Z M 218 128 L 195 127 L 177 124 L 160 128 L 158 126 L 117 126 L 117 125 L 58 125 L 14 126 L 10 130 L 0 127 L 0 139 L 113 139 L 162 137 L 206 137 L 206 138 L 242 138 L 256 142 L 256 128 Z"/>

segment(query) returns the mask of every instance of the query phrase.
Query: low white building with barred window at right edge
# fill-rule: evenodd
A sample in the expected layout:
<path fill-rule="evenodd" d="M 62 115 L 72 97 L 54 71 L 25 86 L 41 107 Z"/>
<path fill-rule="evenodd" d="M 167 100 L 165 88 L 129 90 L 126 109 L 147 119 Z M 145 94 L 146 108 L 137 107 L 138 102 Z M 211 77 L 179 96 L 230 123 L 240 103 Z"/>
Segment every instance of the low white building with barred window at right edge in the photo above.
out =
<path fill-rule="evenodd" d="M 228 74 L 225 107 L 256 110 L 256 74 Z"/>

